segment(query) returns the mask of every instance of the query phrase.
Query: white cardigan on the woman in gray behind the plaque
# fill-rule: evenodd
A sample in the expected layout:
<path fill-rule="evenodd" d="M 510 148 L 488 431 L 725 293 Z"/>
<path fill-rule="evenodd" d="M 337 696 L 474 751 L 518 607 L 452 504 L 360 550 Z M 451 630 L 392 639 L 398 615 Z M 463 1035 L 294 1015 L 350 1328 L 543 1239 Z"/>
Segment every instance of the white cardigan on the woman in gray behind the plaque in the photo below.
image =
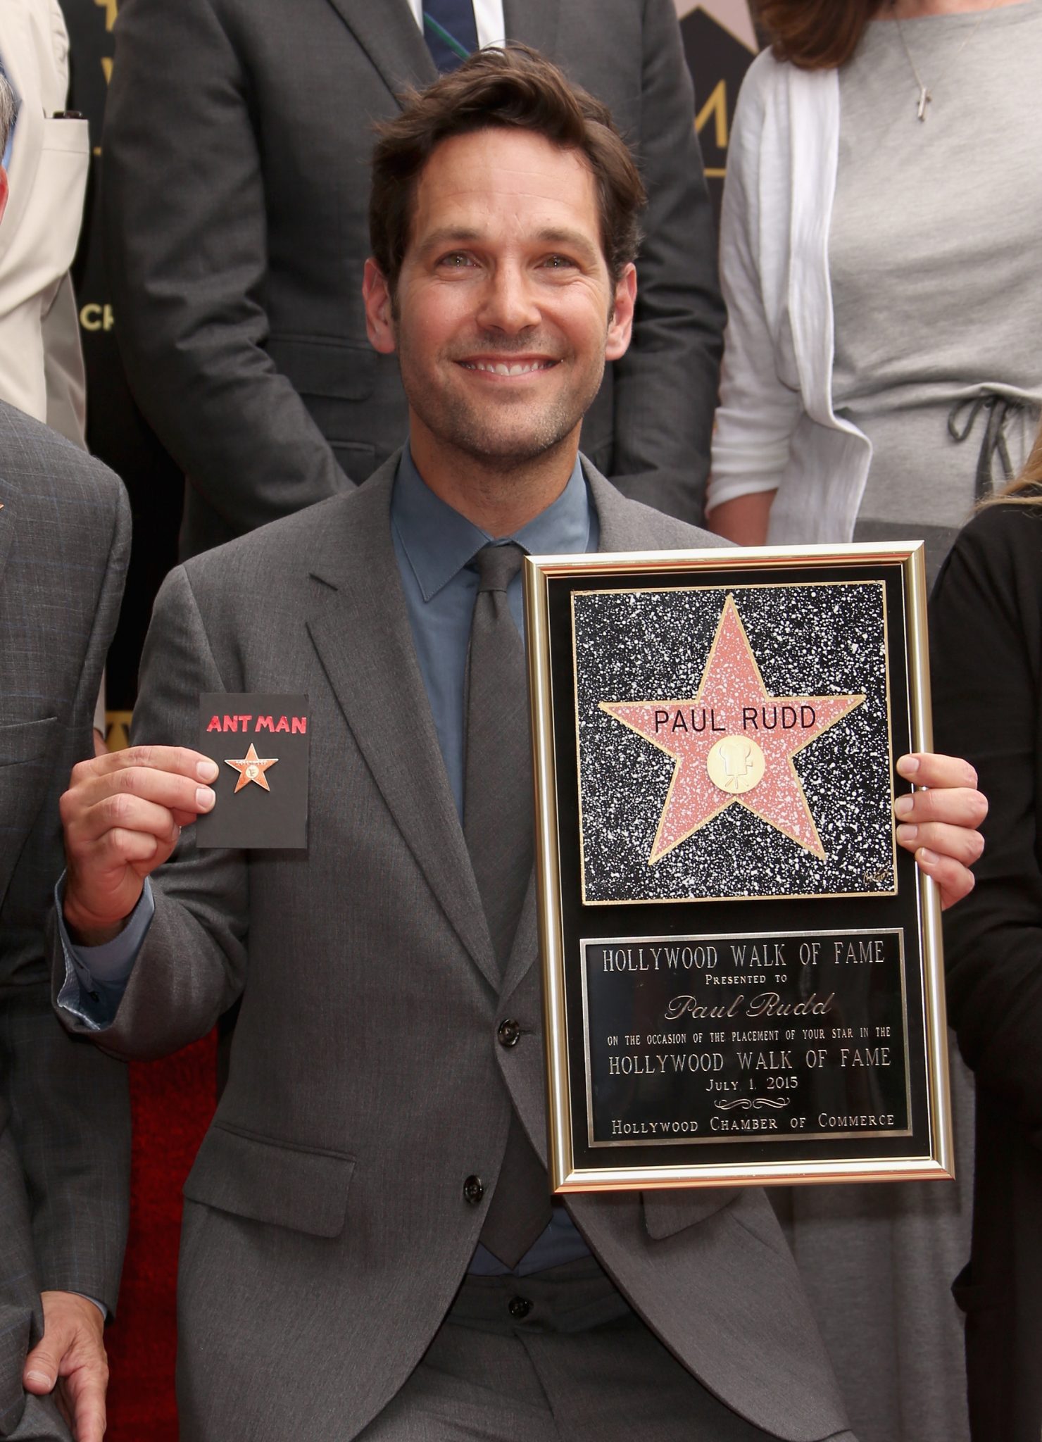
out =
<path fill-rule="evenodd" d="M 849 541 L 872 460 L 869 438 L 832 404 L 837 154 L 837 72 L 757 56 L 728 150 L 728 327 L 708 505 L 777 489 L 770 542 Z"/>

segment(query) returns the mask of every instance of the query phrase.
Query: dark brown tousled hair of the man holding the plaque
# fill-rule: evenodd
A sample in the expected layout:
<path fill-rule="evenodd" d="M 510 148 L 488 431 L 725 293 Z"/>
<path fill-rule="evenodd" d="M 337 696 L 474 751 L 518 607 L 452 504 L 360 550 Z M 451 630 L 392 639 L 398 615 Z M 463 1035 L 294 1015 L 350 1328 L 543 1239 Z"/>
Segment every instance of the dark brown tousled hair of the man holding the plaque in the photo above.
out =
<path fill-rule="evenodd" d="M 392 294 L 424 166 L 442 140 L 496 127 L 530 130 L 561 150 L 579 151 L 597 185 L 601 248 L 613 281 L 636 258 L 644 186 L 608 107 L 526 45 L 507 45 L 478 50 L 428 89 L 409 91 L 402 112 L 376 127 L 369 241 Z"/>

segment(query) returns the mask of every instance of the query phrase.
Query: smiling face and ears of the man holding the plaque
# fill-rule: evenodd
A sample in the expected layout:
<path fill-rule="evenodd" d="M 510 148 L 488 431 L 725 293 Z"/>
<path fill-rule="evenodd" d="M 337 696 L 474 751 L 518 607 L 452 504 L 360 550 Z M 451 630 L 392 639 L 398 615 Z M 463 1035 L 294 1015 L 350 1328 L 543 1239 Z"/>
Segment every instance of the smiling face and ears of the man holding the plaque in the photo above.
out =
<path fill-rule="evenodd" d="M 398 352 L 428 485 L 460 461 L 500 474 L 546 461 L 562 489 L 634 296 L 633 265 L 617 284 L 608 274 L 584 156 L 523 130 L 442 141 L 417 185 L 393 304 L 373 261 L 365 281 L 369 337 Z"/>

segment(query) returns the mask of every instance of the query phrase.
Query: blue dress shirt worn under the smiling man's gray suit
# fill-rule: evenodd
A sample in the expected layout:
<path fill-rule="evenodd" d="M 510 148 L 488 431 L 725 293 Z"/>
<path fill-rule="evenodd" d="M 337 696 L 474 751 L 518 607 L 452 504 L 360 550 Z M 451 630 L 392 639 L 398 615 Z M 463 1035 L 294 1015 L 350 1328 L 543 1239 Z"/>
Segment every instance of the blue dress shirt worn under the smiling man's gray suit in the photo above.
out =
<path fill-rule="evenodd" d="M 490 541 L 516 541 L 530 555 L 574 555 L 595 551 L 600 539 L 597 512 L 589 500 L 581 463 L 575 461 L 558 499 L 512 536 L 490 536 L 441 500 L 425 485 L 408 448 L 402 451 L 391 496 L 391 536 L 402 577 L 412 640 L 419 662 L 438 744 L 445 761 L 455 809 L 463 818 L 464 679 L 470 622 L 477 594 L 477 571 L 470 564 Z M 522 578 L 507 588 L 510 614 L 525 636 Z M 62 923 L 61 887 L 56 888 L 59 930 L 66 957 L 66 981 L 59 1005 L 94 1028 L 111 1022 L 120 1005 L 137 953 L 154 911 L 151 887 L 146 888 L 115 940 L 105 946 L 74 946 Z M 587 1256 L 588 1247 L 562 1206 L 543 1234 L 515 1268 L 519 1276 Z M 478 1244 L 471 1272 L 486 1276 L 510 1270 Z"/>

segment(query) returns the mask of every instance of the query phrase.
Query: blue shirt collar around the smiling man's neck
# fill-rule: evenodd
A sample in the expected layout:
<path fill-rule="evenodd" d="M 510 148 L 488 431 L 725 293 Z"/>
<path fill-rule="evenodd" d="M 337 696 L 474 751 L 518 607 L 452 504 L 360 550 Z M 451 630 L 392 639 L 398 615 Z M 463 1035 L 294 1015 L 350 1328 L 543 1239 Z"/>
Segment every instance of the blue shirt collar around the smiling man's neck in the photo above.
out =
<path fill-rule="evenodd" d="M 391 523 L 425 601 L 437 596 L 489 541 L 516 541 L 529 555 L 574 555 L 587 551 L 592 506 L 578 456 L 568 485 L 553 505 L 540 510 L 512 536 L 487 535 L 435 496 L 417 470 L 408 444 L 398 461 L 391 497 Z"/>

